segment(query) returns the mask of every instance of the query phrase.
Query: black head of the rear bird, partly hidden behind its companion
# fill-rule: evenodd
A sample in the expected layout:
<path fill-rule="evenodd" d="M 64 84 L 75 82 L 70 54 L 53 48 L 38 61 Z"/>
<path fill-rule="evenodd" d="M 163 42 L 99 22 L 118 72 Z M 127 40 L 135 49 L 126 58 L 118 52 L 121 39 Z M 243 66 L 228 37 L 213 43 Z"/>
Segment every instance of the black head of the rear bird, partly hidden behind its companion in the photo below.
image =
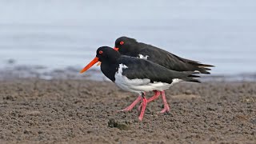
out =
<path fill-rule="evenodd" d="M 120 37 L 115 41 L 114 50 L 120 54 L 127 54 L 138 49 L 138 42 L 134 38 Z"/>

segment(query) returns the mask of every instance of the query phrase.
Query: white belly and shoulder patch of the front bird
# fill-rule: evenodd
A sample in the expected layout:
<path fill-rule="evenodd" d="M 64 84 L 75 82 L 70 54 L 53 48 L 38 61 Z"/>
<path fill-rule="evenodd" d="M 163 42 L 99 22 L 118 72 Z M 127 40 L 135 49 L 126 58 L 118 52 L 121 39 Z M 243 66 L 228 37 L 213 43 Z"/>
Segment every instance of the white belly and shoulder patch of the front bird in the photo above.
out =
<path fill-rule="evenodd" d="M 127 90 L 130 92 L 141 94 L 145 91 L 152 91 L 152 90 L 166 90 L 169 89 L 174 83 L 181 82 L 181 79 L 174 78 L 173 82 L 166 83 L 166 82 L 150 82 L 150 79 L 144 78 L 134 78 L 129 79 L 126 76 L 122 75 L 122 70 L 127 69 L 128 67 L 124 64 L 119 64 L 118 71 L 114 75 L 115 81 L 114 83 L 120 87 L 122 90 Z"/>

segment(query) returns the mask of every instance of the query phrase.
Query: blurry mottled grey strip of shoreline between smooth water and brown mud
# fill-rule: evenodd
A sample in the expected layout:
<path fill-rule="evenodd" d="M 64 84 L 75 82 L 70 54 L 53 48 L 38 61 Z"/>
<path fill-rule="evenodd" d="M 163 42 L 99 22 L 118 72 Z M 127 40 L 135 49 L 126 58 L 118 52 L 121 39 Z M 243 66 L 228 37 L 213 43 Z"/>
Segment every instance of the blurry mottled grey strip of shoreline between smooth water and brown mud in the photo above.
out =
<path fill-rule="evenodd" d="M 92 68 L 84 74 L 80 74 L 81 67 L 68 66 L 62 69 L 50 69 L 45 66 L 6 66 L 0 69 L 0 80 L 14 80 L 17 78 L 39 79 L 84 79 L 95 81 L 110 81 L 98 68 Z M 255 73 L 242 74 L 199 74 L 202 82 L 256 82 Z"/>

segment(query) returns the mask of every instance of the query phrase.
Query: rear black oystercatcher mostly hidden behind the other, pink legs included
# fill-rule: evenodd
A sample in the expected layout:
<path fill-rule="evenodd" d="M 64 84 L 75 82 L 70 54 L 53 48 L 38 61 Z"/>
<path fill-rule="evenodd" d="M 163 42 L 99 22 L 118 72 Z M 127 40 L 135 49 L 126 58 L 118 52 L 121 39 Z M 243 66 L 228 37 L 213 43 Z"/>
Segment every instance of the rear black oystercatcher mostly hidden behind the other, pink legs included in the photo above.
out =
<path fill-rule="evenodd" d="M 146 43 L 137 42 L 137 40 L 134 38 L 118 38 L 115 41 L 114 50 L 118 50 L 119 53 L 123 55 L 147 59 L 151 62 L 158 63 L 159 65 L 164 66 L 170 70 L 198 71 L 201 74 L 210 74 L 210 72 L 207 70 L 210 70 L 209 67 L 213 67 L 211 65 L 202 64 L 190 59 L 178 57 L 177 55 L 171 54 L 166 50 L 162 50 L 158 47 L 151 46 Z M 155 98 L 158 98 L 160 94 L 162 94 L 162 100 L 164 102 L 164 109 L 161 111 L 161 113 L 164 113 L 170 110 L 170 106 L 166 101 L 164 90 L 161 92 L 154 91 L 154 96 L 150 98 L 149 101 L 153 101 Z M 134 101 L 135 104 L 136 102 L 138 101 Z M 133 106 L 134 105 L 128 106 L 124 110 L 130 110 L 130 107 Z"/>

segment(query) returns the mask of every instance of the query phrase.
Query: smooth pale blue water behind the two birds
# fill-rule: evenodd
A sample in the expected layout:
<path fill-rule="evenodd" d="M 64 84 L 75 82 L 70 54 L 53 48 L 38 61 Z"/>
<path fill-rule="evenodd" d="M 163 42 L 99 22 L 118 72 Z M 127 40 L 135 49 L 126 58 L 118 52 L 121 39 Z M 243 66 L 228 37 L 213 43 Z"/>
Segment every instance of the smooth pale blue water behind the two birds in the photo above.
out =
<path fill-rule="evenodd" d="M 213 74 L 254 73 L 255 15 L 254 0 L 0 0 L 0 66 L 82 68 L 126 35 L 212 64 Z"/>

